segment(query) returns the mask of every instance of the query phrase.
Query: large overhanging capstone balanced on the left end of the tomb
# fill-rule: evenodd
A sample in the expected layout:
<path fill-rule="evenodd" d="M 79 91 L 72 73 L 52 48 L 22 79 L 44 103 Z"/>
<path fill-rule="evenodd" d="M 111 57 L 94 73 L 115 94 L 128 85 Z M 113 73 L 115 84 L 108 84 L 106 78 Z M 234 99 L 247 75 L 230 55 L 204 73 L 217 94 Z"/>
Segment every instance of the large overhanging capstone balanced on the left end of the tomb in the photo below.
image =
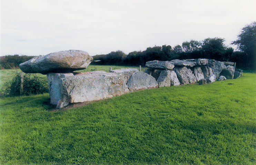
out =
<path fill-rule="evenodd" d="M 92 60 L 85 51 L 69 50 L 34 57 L 19 67 L 24 73 L 71 73 L 86 69 Z"/>

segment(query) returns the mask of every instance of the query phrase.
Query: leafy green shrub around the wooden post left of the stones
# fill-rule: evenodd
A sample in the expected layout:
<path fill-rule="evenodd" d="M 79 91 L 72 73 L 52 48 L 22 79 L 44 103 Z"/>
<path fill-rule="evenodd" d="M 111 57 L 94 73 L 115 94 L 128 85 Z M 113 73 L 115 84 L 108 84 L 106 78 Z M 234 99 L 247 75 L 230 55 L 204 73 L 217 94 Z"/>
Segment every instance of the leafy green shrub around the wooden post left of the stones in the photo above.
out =
<path fill-rule="evenodd" d="M 3 96 L 20 96 L 20 73 L 16 73 L 11 81 L 5 83 L 1 88 L 1 97 Z M 39 77 L 37 74 L 25 74 L 23 78 L 22 95 L 37 95 L 48 93 L 49 87 L 46 77 Z"/>

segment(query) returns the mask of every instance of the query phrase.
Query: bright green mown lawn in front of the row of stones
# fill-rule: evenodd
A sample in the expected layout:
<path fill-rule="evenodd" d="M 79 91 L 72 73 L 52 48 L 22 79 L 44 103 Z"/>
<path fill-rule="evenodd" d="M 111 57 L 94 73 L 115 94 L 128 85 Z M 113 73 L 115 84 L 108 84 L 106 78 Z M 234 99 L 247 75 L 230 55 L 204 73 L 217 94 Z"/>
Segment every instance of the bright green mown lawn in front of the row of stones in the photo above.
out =
<path fill-rule="evenodd" d="M 256 164 L 256 74 L 50 112 L 0 100 L 0 164 Z"/>

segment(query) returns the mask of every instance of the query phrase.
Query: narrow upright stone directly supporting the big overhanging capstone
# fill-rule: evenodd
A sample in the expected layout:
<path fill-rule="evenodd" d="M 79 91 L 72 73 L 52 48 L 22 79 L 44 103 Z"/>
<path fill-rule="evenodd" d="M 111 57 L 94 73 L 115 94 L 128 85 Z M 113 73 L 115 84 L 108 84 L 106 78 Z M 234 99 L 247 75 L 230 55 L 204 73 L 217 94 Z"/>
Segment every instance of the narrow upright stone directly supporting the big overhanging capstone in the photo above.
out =
<path fill-rule="evenodd" d="M 61 93 L 60 93 L 60 79 L 65 77 L 73 76 L 72 73 L 48 73 L 47 79 L 48 79 L 48 86 L 49 86 L 49 95 L 51 99 L 51 104 L 58 105 L 58 102 L 61 99 Z M 61 106 L 64 107 L 67 104 L 62 104 Z"/>

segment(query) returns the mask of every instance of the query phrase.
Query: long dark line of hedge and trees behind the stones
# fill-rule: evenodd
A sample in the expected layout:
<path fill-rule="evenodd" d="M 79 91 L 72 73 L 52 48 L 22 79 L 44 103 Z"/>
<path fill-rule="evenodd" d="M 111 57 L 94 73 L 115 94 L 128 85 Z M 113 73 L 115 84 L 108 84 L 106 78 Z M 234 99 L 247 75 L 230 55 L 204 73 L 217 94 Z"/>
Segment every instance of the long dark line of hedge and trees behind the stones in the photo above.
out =
<path fill-rule="evenodd" d="M 148 47 L 145 51 L 134 51 L 126 55 L 122 51 L 93 56 L 100 65 L 145 65 L 148 61 L 170 61 L 173 59 L 208 58 L 218 61 L 238 61 L 241 52 L 234 52 L 224 45 L 224 39 L 208 38 L 202 42 L 191 40 L 172 48 L 170 45 Z"/>

